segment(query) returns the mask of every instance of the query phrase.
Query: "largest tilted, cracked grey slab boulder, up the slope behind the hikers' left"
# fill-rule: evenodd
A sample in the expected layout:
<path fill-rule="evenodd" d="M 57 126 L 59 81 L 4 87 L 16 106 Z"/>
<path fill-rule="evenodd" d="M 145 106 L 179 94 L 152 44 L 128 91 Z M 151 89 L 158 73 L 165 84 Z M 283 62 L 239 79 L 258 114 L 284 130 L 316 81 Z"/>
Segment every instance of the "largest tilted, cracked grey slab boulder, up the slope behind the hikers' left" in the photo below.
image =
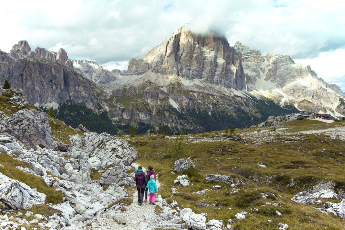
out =
<path fill-rule="evenodd" d="M 70 141 L 73 152 L 84 151 L 89 154 L 89 157 L 110 158 L 115 164 L 122 163 L 129 166 L 138 158 L 136 148 L 106 132 L 101 134 L 87 132 L 83 136 L 73 135 Z"/>

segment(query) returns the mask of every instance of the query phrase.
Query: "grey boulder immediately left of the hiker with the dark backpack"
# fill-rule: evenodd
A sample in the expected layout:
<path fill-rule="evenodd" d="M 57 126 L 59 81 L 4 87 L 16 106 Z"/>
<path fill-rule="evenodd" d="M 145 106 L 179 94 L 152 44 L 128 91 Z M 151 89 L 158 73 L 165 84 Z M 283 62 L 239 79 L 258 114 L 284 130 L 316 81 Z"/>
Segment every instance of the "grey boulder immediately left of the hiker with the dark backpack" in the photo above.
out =
<path fill-rule="evenodd" d="M 99 183 L 102 186 L 118 184 L 119 186 L 135 186 L 134 178 L 127 173 L 127 169 L 123 165 L 109 168 L 103 173 Z"/>

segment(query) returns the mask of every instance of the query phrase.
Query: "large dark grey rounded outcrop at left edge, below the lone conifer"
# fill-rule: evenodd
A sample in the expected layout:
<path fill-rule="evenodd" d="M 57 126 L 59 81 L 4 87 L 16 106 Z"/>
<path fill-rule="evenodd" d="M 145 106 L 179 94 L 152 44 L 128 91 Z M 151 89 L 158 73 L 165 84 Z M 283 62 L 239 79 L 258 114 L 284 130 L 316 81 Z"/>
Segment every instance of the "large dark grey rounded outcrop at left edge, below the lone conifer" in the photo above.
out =
<path fill-rule="evenodd" d="M 50 130 L 50 120 L 45 112 L 23 109 L 1 122 L 0 132 L 7 133 L 27 146 L 42 144 L 57 148 Z"/>

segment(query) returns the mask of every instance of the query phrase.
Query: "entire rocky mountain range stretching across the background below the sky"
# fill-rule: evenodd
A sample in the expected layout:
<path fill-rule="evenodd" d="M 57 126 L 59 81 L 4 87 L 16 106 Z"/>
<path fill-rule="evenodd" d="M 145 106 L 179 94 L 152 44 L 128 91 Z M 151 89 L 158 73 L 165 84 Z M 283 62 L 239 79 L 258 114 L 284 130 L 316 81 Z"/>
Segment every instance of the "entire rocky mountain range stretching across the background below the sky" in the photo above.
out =
<path fill-rule="evenodd" d="M 136 123 L 145 132 L 154 126 L 173 132 L 241 128 L 299 110 L 344 113 L 339 87 L 318 78 L 309 66 L 287 55 L 263 56 L 240 42 L 231 47 L 223 36 L 194 33 L 189 24 L 143 59 L 132 58 L 127 71 L 68 59 L 63 49 L 31 51 L 26 41 L 0 54 L 1 80 L 23 89 L 30 103 L 57 108 L 74 101 L 58 111 L 66 122 L 76 114 L 85 121 L 85 108 L 70 108 L 78 103 L 102 111 L 120 129 Z"/>

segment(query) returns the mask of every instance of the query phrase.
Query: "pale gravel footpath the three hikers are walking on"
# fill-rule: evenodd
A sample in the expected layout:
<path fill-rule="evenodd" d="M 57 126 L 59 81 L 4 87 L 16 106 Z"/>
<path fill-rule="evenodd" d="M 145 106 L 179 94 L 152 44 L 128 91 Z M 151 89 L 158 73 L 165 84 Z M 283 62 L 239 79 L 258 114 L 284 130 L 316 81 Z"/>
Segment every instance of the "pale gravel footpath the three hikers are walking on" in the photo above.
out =
<path fill-rule="evenodd" d="M 138 163 L 132 163 L 132 166 L 138 168 Z M 144 172 L 146 173 L 146 168 L 143 168 Z M 157 187 L 160 187 L 160 183 L 158 181 L 157 175 Z M 108 229 L 116 229 L 116 230 L 137 230 L 139 222 L 144 217 L 144 214 L 148 211 L 155 208 L 154 205 L 150 204 L 149 202 L 142 203 L 142 206 L 138 205 L 138 193 L 137 191 L 133 192 L 131 198 L 133 199 L 133 203 L 126 207 L 126 211 L 124 215 L 126 217 L 127 223 L 126 225 L 121 225 L 116 223 L 114 220 L 109 220 L 108 218 L 99 218 L 97 221 L 91 222 L 90 226 L 87 226 L 84 229 L 87 230 L 108 230 Z M 144 197 L 145 198 L 145 197 Z"/>

